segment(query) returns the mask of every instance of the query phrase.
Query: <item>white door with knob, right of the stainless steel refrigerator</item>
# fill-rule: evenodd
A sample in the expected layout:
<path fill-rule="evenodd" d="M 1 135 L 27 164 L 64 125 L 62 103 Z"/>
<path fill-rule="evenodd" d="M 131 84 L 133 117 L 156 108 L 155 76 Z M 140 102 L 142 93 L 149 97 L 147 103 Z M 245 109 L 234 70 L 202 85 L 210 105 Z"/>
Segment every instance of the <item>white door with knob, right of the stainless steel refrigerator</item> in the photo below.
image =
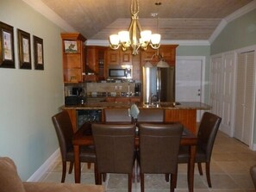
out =
<path fill-rule="evenodd" d="M 203 68 L 202 57 L 178 57 L 175 68 L 177 102 L 203 102 Z M 200 119 L 201 113 L 197 111 L 197 121 Z"/>

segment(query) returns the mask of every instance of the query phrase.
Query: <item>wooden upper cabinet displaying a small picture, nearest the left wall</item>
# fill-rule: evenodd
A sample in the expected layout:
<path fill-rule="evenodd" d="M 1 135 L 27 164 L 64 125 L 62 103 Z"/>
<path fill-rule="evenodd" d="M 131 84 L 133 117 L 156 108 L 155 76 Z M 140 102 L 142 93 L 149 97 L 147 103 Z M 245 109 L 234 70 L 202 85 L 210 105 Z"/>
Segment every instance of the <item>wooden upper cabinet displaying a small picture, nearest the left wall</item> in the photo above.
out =
<path fill-rule="evenodd" d="M 84 41 L 86 39 L 78 33 L 63 33 L 61 38 L 64 82 L 83 82 Z"/>

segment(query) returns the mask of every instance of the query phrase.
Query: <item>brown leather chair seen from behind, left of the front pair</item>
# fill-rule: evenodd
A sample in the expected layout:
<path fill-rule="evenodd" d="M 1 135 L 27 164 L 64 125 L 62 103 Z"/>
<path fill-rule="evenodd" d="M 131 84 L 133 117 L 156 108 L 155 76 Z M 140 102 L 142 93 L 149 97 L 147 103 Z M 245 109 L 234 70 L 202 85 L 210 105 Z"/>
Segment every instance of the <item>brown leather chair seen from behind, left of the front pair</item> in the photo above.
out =
<path fill-rule="evenodd" d="M 128 174 L 128 191 L 132 191 L 135 126 L 132 124 L 92 124 L 97 154 L 97 181 L 106 173 Z"/>

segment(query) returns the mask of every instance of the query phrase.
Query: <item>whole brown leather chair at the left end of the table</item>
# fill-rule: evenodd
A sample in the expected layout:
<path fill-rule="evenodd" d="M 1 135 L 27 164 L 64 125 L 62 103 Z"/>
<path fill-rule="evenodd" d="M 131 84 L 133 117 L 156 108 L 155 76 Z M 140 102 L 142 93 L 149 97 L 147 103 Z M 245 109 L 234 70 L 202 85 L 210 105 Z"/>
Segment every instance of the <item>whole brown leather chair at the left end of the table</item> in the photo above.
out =
<path fill-rule="evenodd" d="M 62 158 L 62 177 L 61 183 L 65 182 L 66 178 L 66 162 L 70 162 L 69 173 L 72 173 L 72 167 L 74 162 L 74 152 L 72 145 L 72 122 L 66 111 L 62 111 L 59 114 L 53 115 L 53 125 L 59 140 L 59 148 Z M 96 163 L 96 154 L 94 146 L 81 146 L 80 147 L 80 161 L 85 163 Z M 97 167 L 95 166 L 95 173 L 97 173 Z M 97 183 L 97 176 L 95 176 L 95 182 Z"/>

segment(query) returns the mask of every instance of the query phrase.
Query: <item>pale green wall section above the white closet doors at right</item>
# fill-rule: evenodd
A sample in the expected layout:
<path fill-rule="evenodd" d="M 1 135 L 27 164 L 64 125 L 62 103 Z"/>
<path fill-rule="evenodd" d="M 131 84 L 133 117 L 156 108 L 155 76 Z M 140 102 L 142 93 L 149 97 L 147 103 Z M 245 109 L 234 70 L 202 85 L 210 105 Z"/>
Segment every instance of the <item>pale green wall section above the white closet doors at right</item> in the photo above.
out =
<path fill-rule="evenodd" d="M 211 44 L 211 55 L 256 44 L 256 9 L 242 15 L 222 30 Z"/>

